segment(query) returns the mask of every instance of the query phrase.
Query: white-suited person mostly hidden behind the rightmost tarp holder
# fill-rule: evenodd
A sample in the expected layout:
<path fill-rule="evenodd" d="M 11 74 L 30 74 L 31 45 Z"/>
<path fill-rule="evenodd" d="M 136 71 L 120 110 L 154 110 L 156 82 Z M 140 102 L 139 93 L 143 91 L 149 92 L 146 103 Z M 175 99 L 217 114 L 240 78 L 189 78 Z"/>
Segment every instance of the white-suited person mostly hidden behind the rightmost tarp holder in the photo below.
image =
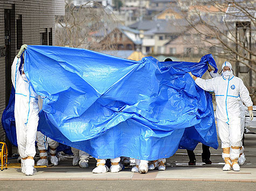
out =
<path fill-rule="evenodd" d="M 217 76 L 220 76 L 217 72 L 214 73 L 214 70 L 212 70 L 212 68 L 210 67 L 210 65 L 208 64 L 208 71 L 209 74 L 212 78 L 215 78 Z M 241 119 L 241 139 L 243 139 L 243 135 L 244 135 L 244 130 L 245 130 L 245 107 L 244 104 L 240 98 L 240 96 L 238 97 L 238 101 L 239 101 L 239 109 L 240 109 L 240 119 Z M 241 142 L 241 146 L 240 146 L 240 155 L 238 158 L 238 163 L 240 165 L 243 165 L 245 163 L 245 154 L 244 154 L 244 146 L 243 143 Z"/>

